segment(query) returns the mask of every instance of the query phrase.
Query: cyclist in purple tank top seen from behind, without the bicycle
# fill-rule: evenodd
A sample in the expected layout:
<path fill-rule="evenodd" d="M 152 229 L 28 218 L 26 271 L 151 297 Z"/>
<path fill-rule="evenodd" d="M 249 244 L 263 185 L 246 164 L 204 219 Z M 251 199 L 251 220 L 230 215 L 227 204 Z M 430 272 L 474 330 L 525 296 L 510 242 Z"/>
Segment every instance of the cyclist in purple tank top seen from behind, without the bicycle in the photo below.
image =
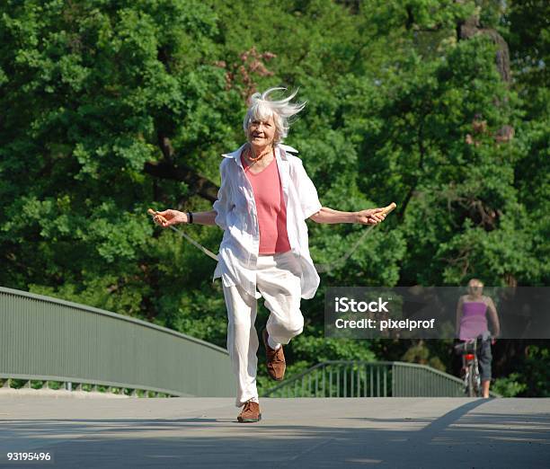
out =
<path fill-rule="evenodd" d="M 487 315 L 492 322 L 491 335 Z M 471 279 L 468 282 L 468 294 L 460 296 L 457 304 L 457 331 L 460 341 L 472 341 L 481 336 L 478 347 L 479 373 L 481 375 L 483 397 L 489 397 L 491 385 L 491 345 L 501 332 L 499 316 L 491 296 L 483 295 L 483 282 Z"/>

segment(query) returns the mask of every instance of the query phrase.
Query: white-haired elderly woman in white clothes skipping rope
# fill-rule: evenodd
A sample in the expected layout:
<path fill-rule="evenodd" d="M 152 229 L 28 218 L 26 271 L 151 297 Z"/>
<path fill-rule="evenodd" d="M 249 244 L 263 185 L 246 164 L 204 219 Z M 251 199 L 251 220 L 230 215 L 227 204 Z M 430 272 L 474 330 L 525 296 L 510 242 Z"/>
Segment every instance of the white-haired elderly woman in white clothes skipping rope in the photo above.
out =
<path fill-rule="evenodd" d="M 261 420 L 256 367 L 258 335 L 254 327 L 257 299 L 263 296 L 270 310 L 262 339 L 267 370 L 272 379 L 285 373 L 283 345 L 302 332 L 300 299 L 315 296 L 319 276 L 311 260 L 306 219 L 316 223 L 376 225 L 383 208 L 342 212 L 321 206 L 315 185 L 307 176 L 297 150 L 282 145 L 288 119 L 305 103 L 279 101 L 271 88 L 255 93 L 244 116 L 247 143 L 223 155 L 219 166 L 221 187 L 208 212 L 164 210 L 155 223 L 217 225 L 224 230 L 214 279 L 221 278 L 226 300 L 227 350 L 237 378 L 237 420 Z M 256 292 L 259 290 L 259 293 Z"/>

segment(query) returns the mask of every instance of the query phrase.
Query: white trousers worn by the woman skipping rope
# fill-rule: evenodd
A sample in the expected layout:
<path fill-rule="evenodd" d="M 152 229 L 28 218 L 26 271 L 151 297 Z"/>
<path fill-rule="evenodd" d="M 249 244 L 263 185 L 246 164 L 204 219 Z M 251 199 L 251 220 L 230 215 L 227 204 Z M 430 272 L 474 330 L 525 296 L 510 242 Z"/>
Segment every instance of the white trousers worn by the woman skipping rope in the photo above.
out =
<path fill-rule="evenodd" d="M 256 287 L 271 312 L 266 329 L 272 341 L 288 344 L 303 331 L 300 274 L 299 261 L 290 251 L 258 257 Z M 256 352 L 259 340 L 254 327 L 257 300 L 238 285 L 224 286 L 224 296 L 228 318 L 227 350 L 237 378 L 235 405 L 240 407 L 251 399 L 258 402 Z"/>

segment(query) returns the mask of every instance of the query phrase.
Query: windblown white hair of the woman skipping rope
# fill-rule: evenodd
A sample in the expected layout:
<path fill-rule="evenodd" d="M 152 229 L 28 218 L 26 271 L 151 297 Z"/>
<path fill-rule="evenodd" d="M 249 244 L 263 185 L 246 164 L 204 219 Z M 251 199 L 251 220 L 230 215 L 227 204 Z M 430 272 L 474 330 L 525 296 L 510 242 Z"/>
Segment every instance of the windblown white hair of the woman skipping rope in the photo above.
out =
<path fill-rule="evenodd" d="M 288 128 L 290 128 L 289 119 L 299 111 L 302 111 L 306 106 L 306 102 L 290 102 L 296 96 L 297 91 L 282 100 L 271 100 L 270 94 L 277 90 L 286 91 L 287 89 L 270 88 L 263 93 L 253 93 L 251 96 L 250 106 L 248 107 L 248 111 L 246 111 L 243 121 L 244 134 L 247 137 L 248 126 L 254 120 L 267 120 L 271 116 L 273 116 L 276 128 L 274 143 L 278 144 L 282 142 L 283 138 L 288 136 Z"/>

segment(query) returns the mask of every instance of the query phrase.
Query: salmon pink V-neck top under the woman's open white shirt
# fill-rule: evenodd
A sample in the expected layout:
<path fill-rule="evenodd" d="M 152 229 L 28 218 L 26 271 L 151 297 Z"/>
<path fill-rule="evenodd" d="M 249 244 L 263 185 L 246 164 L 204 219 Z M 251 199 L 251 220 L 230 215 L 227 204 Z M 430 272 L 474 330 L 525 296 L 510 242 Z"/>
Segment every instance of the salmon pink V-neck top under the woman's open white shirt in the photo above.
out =
<path fill-rule="evenodd" d="M 241 155 L 244 173 L 253 187 L 260 228 L 259 254 L 290 251 L 287 233 L 287 208 L 279 178 L 277 159 L 273 158 L 260 173 L 254 174 Z"/>

